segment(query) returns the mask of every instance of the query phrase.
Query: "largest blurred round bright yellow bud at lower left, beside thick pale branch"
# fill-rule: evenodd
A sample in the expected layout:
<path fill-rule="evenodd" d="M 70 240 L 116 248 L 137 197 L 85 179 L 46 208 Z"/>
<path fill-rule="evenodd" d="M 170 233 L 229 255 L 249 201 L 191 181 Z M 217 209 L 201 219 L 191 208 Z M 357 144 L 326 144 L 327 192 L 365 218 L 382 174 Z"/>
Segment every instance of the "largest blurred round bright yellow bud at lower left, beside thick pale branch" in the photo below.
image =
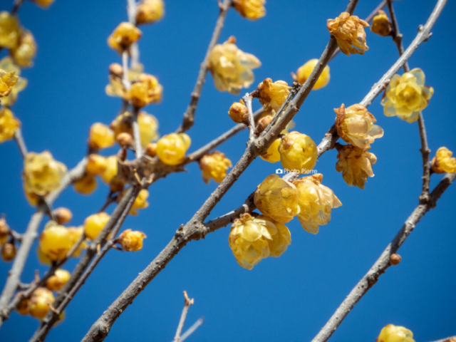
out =
<path fill-rule="evenodd" d="M 65 259 L 71 249 L 70 232 L 66 227 L 50 221 L 41 232 L 39 246 L 43 254 L 52 261 Z"/>

